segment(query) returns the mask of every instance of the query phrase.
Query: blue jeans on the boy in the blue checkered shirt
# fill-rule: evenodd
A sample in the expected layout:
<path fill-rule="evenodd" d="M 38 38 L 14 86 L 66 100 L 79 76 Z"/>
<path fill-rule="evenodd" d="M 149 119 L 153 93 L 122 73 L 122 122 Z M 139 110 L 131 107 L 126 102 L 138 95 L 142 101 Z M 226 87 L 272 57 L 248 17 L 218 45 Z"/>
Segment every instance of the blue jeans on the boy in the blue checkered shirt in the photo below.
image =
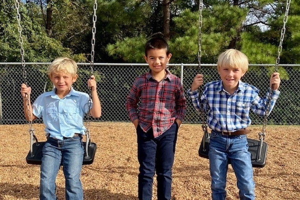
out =
<path fill-rule="evenodd" d="M 239 198 L 253 200 L 253 169 L 246 135 L 226 136 L 212 130 L 209 142 L 212 199 L 225 200 L 226 174 L 230 160 L 237 179 Z"/>

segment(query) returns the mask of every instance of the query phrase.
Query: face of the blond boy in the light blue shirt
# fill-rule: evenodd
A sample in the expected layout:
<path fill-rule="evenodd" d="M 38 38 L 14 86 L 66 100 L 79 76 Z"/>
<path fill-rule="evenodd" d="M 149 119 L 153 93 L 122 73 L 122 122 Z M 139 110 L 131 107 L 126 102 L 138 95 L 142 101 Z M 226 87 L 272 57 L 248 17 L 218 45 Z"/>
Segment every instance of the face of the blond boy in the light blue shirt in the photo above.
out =
<path fill-rule="evenodd" d="M 72 83 L 77 79 L 77 74 L 72 76 L 69 73 L 51 73 L 50 80 L 56 88 L 56 94 L 64 94 L 68 92 L 72 86 Z"/>

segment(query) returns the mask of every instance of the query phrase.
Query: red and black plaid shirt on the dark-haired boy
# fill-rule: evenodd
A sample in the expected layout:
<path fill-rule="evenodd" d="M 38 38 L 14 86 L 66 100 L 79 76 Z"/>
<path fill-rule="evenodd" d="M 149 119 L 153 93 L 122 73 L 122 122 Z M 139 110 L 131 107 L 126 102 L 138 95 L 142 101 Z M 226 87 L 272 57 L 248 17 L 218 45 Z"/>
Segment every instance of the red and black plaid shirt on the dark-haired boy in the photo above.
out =
<path fill-rule="evenodd" d="M 159 82 L 152 77 L 150 71 L 138 76 L 126 101 L 130 120 L 138 119 L 138 124 L 145 132 L 152 127 L 154 137 L 169 129 L 175 119 L 183 121 L 186 111 L 180 78 L 167 70 L 166 72 L 165 78 Z"/>

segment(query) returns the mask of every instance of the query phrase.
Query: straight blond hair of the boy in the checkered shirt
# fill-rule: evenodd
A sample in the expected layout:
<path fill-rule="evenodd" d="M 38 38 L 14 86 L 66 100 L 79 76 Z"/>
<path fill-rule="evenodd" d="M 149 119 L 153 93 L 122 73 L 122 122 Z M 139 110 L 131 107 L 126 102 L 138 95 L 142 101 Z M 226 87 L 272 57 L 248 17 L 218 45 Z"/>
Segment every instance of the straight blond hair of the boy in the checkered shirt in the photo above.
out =
<path fill-rule="evenodd" d="M 244 53 L 230 48 L 219 55 L 216 67 L 218 70 L 221 67 L 240 68 L 242 72 L 246 72 L 248 70 L 248 64 L 248 58 Z"/>

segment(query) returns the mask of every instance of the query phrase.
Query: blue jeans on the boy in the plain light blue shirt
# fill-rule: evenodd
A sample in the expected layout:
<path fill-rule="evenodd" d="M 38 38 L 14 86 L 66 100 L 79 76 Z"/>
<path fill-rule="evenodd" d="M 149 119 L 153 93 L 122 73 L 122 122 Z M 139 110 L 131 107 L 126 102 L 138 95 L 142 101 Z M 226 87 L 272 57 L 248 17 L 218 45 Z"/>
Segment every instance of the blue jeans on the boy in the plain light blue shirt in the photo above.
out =
<path fill-rule="evenodd" d="M 49 137 L 43 146 L 42 153 L 39 188 L 40 200 L 57 199 L 55 194 L 55 179 L 60 162 L 62 162 L 65 177 L 65 199 L 82 200 L 83 190 L 80 181 L 84 154 L 82 136 L 63 140 L 56 140 Z"/>

